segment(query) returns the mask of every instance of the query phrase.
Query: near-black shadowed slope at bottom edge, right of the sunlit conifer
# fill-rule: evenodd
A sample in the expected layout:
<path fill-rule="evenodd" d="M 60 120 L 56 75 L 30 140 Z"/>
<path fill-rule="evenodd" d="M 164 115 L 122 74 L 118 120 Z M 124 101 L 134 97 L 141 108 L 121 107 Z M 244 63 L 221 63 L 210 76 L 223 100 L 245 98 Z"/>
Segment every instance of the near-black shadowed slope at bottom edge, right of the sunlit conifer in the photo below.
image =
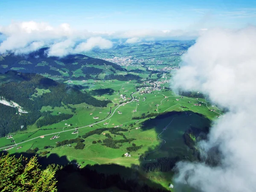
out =
<path fill-rule="evenodd" d="M 77 169 L 65 166 L 56 172 L 61 192 L 167 192 L 159 184 L 145 178 L 137 169 L 115 164 L 85 166 Z"/>

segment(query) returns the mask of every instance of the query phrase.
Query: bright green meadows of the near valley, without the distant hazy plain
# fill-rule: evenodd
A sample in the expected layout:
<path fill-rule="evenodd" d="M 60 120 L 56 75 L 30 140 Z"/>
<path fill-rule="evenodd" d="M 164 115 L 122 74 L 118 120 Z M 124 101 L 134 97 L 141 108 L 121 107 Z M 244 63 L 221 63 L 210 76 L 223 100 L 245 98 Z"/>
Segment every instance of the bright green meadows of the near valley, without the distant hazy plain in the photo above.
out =
<path fill-rule="evenodd" d="M 169 79 L 170 77 L 166 77 Z M 161 80 L 159 80 L 161 81 Z M 167 80 L 168 81 L 168 80 Z M 163 89 L 167 84 L 161 84 L 160 90 L 153 90 L 151 93 L 143 93 L 145 87 L 140 89 L 136 81 L 66 81 L 70 85 L 81 85 L 83 90 L 90 93 L 97 99 L 110 99 L 113 103 L 108 104 L 106 108 L 97 108 L 85 103 L 78 105 L 70 105 L 76 108 L 75 113 L 71 111 L 68 106 L 52 108 L 51 106 L 44 106 L 41 111 L 52 111 L 53 115 L 58 113 L 74 114 L 72 118 L 61 121 L 56 124 L 43 126 L 37 128 L 36 125 L 31 125 L 26 131 L 18 131 L 12 133 L 13 139 L 0 138 L 1 148 L 4 149 L 15 140 L 17 147 L 8 150 L 9 153 L 25 152 L 28 149 L 39 148 L 37 153 L 49 151 L 46 157 L 51 157 L 52 154 L 58 157 L 65 157 L 66 160 L 73 162 L 76 161 L 81 166 L 87 164 L 109 164 L 114 163 L 126 167 L 133 167 L 134 165 L 141 165 L 148 162 L 156 162 L 157 158 L 161 157 L 184 157 L 193 160 L 192 149 L 188 148 L 183 141 L 183 133 L 190 127 L 204 128 L 210 125 L 210 121 L 216 119 L 218 110 L 216 106 L 208 106 L 207 101 L 201 98 L 189 98 L 176 95 L 172 90 Z M 37 96 L 40 96 L 49 90 L 38 89 Z M 132 96 L 131 96 L 132 94 Z M 126 95 L 126 99 L 130 98 L 126 105 L 119 105 L 120 102 L 125 102 L 121 95 Z M 134 98 L 134 100 L 131 100 Z M 194 104 L 201 104 L 194 105 Z M 112 108 L 112 109 L 111 109 Z M 215 109 L 216 111 L 209 111 Z M 111 113 L 109 113 L 111 111 Z M 118 113 L 119 111 L 119 113 Z M 150 113 L 166 113 L 171 111 L 180 111 L 181 114 L 167 113 L 161 119 L 158 118 L 144 118 L 132 119 L 133 117 L 140 117 Z M 121 113 L 121 114 L 120 114 Z M 198 115 L 201 114 L 201 115 Z M 93 119 L 93 117 L 99 119 Z M 93 127 L 89 125 L 93 124 Z M 72 126 L 67 126 L 72 125 Z M 105 134 L 110 134 L 114 140 L 122 140 L 121 135 L 111 134 L 109 131 L 104 131 L 104 134 L 94 134 L 84 139 L 85 147 L 82 150 L 74 149 L 76 143 L 71 145 L 63 145 L 56 147 L 57 141 L 75 139 L 82 135 L 93 131 L 97 128 L 111 128 L 116 125 L 122 125 L 122 128 L 127 128 L 128 131 L 121 131 L 125 137 L 134 138 L 136 140 L 131 143 L 122 143 L 119 148 L 110 148 L 102 143 L 93 144 L 93 141 L 104 140 L 107 137 Z M 78 134 L 72 134 L 75 128 L 78 128 Z M 163 130 L 163 128 L 166 128 Z M 40 136 L 45 136 L 40 138 Z M 54 135 L 59 136 L 58 139 L 50 140 Z M 122 154 L 127 152 L 127 147 L 131 144 L 143 145 L 137 151 L 131 151 L 131 157 L 122 157 Z M 6 147 L 5 147 L 6 146 Z M 50 148 L 44 149 L 44 146 Z M 59 162 L 61 163 L 61 162 Z M 148 173 L 146 177 L 152 177 L 156 183 L 166 186 L 170 182 L 171 177 L 169 174 L 158 172 L 162 175 L 161 179 L 152 176 Z"/>

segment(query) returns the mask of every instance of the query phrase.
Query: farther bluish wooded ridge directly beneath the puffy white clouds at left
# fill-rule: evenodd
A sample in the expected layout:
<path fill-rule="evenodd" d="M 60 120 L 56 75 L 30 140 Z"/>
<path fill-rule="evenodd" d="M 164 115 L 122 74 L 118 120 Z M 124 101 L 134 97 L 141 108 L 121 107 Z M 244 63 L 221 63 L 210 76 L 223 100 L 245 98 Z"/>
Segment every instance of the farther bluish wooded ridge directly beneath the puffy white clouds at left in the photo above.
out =
<path fill-rule="evenodd" d="M 92 71 L 96 74 L 113 74 L 116 70 L 126 71 L 117 64 L 81 54 L 67 55 L 63 58 L 48 57 L 48 49 L 42 48 L 27 55 L 15 55 L 13 53 L 0 55 L 0 73 L 15 70 L 23 73 L 47 73 L 50 76 L 71 77 L 74 75 L 82 76 L 87 73 L 93 74 Z"/>

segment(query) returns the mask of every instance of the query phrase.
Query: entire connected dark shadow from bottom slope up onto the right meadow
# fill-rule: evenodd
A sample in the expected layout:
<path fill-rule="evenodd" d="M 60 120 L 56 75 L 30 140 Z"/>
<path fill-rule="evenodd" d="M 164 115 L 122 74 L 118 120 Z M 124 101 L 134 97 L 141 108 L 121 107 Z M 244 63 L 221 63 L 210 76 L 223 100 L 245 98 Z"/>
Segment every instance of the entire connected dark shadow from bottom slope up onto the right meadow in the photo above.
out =
<path fill-rule="evenodd" d="M 193 148 L 193 144 L 208 133 L 210 123 L 209 119 L 191 111 L 169 112 L 146 120 L 141 125 L 141 130 L 155 129 L 160 143 L 154 148 L 148 148 L 144 154 L 138 154 L 141 155 L 140 165 L 132 165 L 131 168 L 108 164 L 87 165 L 78 169 L 76 160 L 70 162 L 66 156 L 59 157 L 56 154 L 50 154 L 48 157 L 38 155 L 38 162 L 42 168 L 53 163 L 67 165 L 56 172 L 60 192 L 165 192 L 168 189 L 164 189 L 162 185 L 166 187 L 169 182 L 173 183 L 171 176 L 160 185 L 151 178 L 151 173 L 154 172 L 153 177 L 159 177 L 161 180 L 160 177 L 165 175 L 163 172 L 174 174 L 173 168 L 178 161 L 198 161 L 198 152 Z M 190 136 L 186 137 L 189 134 Z M 20 157 L 20 154 L 25 157 L 33 155 L 15 155 Z M 176 183 L 173 184 L 176 192 L 191 191 L 184 190 L 183 186 Z M 178 190 L 179 187 L 182 189 Z"/>

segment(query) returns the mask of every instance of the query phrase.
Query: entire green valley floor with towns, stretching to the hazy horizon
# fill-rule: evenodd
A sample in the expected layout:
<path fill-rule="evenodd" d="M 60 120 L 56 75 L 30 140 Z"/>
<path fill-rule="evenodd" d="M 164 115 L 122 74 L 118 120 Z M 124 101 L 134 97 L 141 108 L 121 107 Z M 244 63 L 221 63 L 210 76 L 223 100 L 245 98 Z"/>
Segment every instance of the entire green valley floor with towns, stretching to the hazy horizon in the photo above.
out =
<path fill-rule="evenodd" d="M 170 89 L 169 82 L 172 74 L 178 69 L 180 56 L 186 52 L 186 47 L 192 44 L 192 41 L 180 43 L 170 41 L 160 44 L 139 43 L 136 46 L 127 44 L 118 49 L 113 47 L 105 52 L 93 50 L 85 53 L 88 56 L 115 62 L 127 71 L 115 70 L 112 65 L 86 64 L 85 66 L 81 63 L 81 67 L 72 70 L 72 67 L 65 66 L 61 61 L 54 61 L 59 68 L 50 66 L 51 70 L 58 71 L 61 76 L 51 76 L 47 73 L 44 76 L 67 86 L 76 87 L 96 99 L 111 100 L 111 103 L 103 108 L 86 103 L 64 105 L 63 102 L 61 102 L 61 106 L 58 105 L 59 107 L 48 105 L 41 108 L 40 106 L 41 113 L 50 111 L 53 116 L 63 113 L 73 114 L 73 116 L 70 119 L 41 128 L 38 128 L 35 122 L 35 124 L 27 126 L 26 130 L 10 133 L 12 138 L 0 138 L 0 149 L 6 150 L 10 146 L 15 146 L 10 148 L 8 153 L 21 154 L 38 148 L 36 154 L 44 160 L 42 163 L 63 165 L 79 163 L 81 167 L 101 165 L 99 168 L 101 170 L 98 171 L 123 172 L 122 175 L 132 175 L 131 177 L 134 174 L 126 173 L 126 171 L 133 169 L 125 168 L 136 168 L 140 175 L 153 181 L 153 185 L 154 183 L 160 184 L 168 189 L 169 183 L 173 183 L 172 175 L 174 173 L 172 170 L 148 172 L 143 167 L 150 163 L 158 163 L 159 159 L 165 157 L 197 160 L 194 149 L 185 142 L 186 131 L 196 128 L 203 132 L 211 126 L 212 121 L 221 117 L 223 113 L 206 99 L 181 96 Z M 79 62 L 79 60 L 77 61 Z M 71 65 L 78 66 L 78 62 Z M 25 61 L 21 64 L 23 66 L 31 65 Z M 48 66 L 48 63 L 41 61 L 37 65 L 45 67 Z M 94 80 L 86 79 L 84 67 L 96 67 L 102 72 L 90 74 Z M 133 74 L 140 76 L 141 80 L 104 80 L 105 76 L 113 74 Z M 0 75 L 1 82 L 13 81 L 11 78 L 11 76 Z M 15 81 L 20 80 L 22 79 L 15 79 Z M 36 88 L 30 99 L 38 99 L 50 92 L 49 89 Z M 44 117 L 39 119 L 42 118 Z M 114 127 L 121 129 L 113 133 Z M 104 131 L 100 130 L 96 134 L 91 134 L 92 131 L 103 128 Z M 90 135 L 84 138 L 85 134 Z M 41 138 L 41 136 L 44 137 Z M 57 136 L 57 138 L 51 140 L 53 136 Z M 191 135 L 191 137 L 197 141 L 195 135 Z M 57 146 L 59 142 L 76 138 L 84 139 L 83 149 L 75 149 L 77 143 Z M 120 143 L 115 143 L 114 147 L 113 145 L 107 146 L 104 140 L 108 138 L 111 138 L 114 143 Z M 128 151 L 134 145 L 140 147 Z M 46 155 L 41 154 L 47 151 Z M 123 157 L 127 152 L 131 156 Z M 103 170 L 105 166 L 111 165 L 124 166 L 124 169 L 119 167 L 119 170 L 107 168 Z M 137 169 L 138 167 L 140 169 Z M 76 175 L 73 176 L 76 177 Z M 150 182 L 148 184 L 152 185 Z"/>

